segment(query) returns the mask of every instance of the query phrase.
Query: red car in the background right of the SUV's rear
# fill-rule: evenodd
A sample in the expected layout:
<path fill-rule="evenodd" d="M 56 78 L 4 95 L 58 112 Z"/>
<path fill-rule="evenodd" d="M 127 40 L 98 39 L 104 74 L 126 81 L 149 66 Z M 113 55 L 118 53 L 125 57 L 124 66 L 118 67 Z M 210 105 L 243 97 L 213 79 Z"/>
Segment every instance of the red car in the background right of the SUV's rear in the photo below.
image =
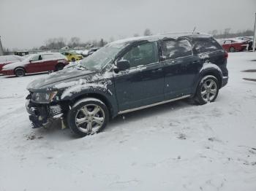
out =
<path fill-rule="evenodd" d="M 223 49 L 227 52 L 236 52 L 246 50 L 248 47 L 248 42 L 241 41 L 238 39 L 226 39 L 220 42 Z"/>

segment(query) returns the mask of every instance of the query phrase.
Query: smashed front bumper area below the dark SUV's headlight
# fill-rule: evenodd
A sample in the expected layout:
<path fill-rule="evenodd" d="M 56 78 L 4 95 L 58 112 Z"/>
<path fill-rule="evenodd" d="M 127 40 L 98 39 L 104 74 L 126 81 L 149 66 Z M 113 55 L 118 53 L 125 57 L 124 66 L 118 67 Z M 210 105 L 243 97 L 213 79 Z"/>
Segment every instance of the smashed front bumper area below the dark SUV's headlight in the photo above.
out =
<path fill-rule="evenodd" d="M 29 113 L 32 128 L 45 127 L 49 122 L 63 115 L 60 105 L 34 104 L 30 100 L 26 101 L 26 111 Z"/>

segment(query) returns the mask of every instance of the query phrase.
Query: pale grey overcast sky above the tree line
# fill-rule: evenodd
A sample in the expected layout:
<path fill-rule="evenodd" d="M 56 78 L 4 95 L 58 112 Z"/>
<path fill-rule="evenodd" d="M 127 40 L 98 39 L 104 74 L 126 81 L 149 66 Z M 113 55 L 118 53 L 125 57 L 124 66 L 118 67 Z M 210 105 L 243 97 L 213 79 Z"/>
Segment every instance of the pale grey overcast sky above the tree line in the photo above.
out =
<path fill-rule="evenodd" d="M 6 48 L 31 48 L 72 36 L 120 39 L 232 28 L 253 29 L 256 0 L 0 0 L 0 36 Z"/>

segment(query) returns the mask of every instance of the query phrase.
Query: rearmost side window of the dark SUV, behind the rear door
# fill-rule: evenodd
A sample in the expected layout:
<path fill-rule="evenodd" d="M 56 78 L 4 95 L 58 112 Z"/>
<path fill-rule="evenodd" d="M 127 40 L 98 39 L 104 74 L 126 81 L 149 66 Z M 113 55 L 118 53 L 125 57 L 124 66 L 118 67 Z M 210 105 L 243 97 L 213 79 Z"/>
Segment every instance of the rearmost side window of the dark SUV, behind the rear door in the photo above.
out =
<path fill-rule="evenodd" d="M 212 52 L 219 49 L 221 49 L 221 46 L 212 38 L 194 40 L 194 50 L 197 53 Z"/>

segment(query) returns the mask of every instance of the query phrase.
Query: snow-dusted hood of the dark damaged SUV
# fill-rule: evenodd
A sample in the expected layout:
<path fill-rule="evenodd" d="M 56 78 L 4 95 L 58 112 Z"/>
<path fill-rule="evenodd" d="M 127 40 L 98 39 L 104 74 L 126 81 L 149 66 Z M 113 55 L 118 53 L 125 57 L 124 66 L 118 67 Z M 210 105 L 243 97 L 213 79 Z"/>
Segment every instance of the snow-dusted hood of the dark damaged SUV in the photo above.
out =
<path fill-rule="evenodd" d="M 80 80 L 90 81 L 95 73 L 97 73 L 97 71 L 71 67 L 50 73 L 46 77 L 34 80 L 27 86 L 27 90 L 31 92 L 59 90 L 76 85 Z"/>

